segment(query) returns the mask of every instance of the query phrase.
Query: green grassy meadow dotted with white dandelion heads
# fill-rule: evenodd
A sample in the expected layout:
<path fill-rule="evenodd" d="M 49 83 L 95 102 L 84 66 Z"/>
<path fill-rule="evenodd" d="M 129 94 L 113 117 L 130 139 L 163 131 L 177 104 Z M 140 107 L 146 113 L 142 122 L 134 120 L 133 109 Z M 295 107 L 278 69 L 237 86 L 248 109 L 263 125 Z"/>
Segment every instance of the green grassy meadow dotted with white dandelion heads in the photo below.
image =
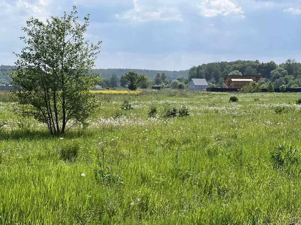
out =
<path fill-rule="evenodd" d="M 0 93 L 1 225 L 301 223 L 300 94 L 98 96 L 87 125 L 55 138 Z M 169 104 L 191 115 L 163 118 Z M 279 144 L 293 161 L 271 157 Z"/>

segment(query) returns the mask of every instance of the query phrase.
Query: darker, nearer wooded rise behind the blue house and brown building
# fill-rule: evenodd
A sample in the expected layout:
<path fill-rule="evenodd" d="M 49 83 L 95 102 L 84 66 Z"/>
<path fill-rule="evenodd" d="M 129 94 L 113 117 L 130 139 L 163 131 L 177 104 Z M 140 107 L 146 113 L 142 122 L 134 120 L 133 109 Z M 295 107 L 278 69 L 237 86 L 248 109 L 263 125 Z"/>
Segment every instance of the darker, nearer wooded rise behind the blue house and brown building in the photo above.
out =
<path fill-rule="evenodd" d="M 260 63 L 237 60 L 233 62 L 213 62 L 190 68 L 188 79 L 205 78 L 211 87 L 223 87 L 227 75 L 260 75 L 264 86 L 272 82 L 275 88 L 285 85 L 287 88 L 301 87 L 301 63 L 288 59 L 284 63 L 274 61 Z"/>

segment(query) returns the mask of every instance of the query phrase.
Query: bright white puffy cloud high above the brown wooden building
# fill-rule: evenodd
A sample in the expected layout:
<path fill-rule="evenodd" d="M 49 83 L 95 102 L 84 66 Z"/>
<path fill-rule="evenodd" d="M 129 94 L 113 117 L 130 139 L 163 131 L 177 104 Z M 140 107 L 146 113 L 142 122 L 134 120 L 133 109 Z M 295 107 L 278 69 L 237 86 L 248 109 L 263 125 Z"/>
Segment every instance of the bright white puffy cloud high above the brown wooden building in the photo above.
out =
<path fill-rule="evenodd" d="M 244 11 L 241 7 L 236 6 L 230 0 L 203 0 L 201 4 L 197 4 L 200 8 L 200 14 L 205 17 L 213 17 L 217 15 L 228 16 L 236 14 L 244 18 Z"/>

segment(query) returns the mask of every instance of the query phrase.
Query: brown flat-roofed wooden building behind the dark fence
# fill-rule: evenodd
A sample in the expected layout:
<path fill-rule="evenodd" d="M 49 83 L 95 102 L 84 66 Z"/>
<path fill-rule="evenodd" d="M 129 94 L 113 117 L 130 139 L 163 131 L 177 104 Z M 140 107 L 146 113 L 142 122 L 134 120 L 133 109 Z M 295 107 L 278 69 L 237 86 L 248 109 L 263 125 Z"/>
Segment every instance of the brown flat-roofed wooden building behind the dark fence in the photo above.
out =
<path fill-rule="evenodd" d="M 242 88 L 250 84 L 250 82 L 258 82 L 261 76 L 225 76 L 225 88 Z"/>

